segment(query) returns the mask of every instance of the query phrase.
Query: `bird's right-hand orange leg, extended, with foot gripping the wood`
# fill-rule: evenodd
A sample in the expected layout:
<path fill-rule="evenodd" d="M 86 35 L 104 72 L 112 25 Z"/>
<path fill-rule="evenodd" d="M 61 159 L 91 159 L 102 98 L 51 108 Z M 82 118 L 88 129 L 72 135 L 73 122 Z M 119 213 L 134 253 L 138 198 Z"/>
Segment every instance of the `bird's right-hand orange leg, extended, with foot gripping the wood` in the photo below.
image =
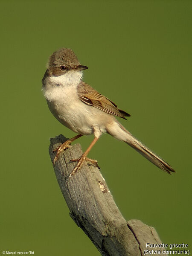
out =
<path fill-rule="evenodd" d="M 97 142 L 97 140 L 99 140 L 99 138 L 95 137 L 94 140 L 92 141 L 92 143 L 89 145 L 89 147 L 87 148 L 87 150 L 81 155 L 81 157 L 79 157 L 78 159 L 73 159 L 70 160 L 70 162 L 78 162 L 76 164 L 76 166 L 73 168 L 73 171 L 70 173 L 71 177 L 72 175 L 74 175 L 74 173 L 81 168 L 82 164 L 84 163 L 84 161 L 90 161 L 91 163 L 93 163 L 95 166 L 97 166 L 97 161 L 94 159 L 90 159 L 87 158 L 87 154 L 89 153 L 89 151 L 91 150 L 91 148 L 93 147 L 93 145 L 95 145 L 95 143 Z"/>

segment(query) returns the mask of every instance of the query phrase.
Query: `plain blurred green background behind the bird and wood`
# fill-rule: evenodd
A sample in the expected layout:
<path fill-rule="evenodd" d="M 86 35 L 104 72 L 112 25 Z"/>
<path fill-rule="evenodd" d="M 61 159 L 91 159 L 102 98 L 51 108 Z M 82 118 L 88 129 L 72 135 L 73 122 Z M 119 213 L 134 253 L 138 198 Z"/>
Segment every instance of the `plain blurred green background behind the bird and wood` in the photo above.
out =
<path fill-rule="evenodd" d="M 49 138 L 75 134 L 49 112 L 41 79 L 49 55 L 70 47 L 84 81 L 131 113 L 119 120 L 177 171 L 167 175 L 103 135 L 89 156 L 126 220 L 164 243 L 192 241 L 191 1 L 1 1 L 0 255 L 100 255 L 69 216 Z M 83 150 L 90 137 L 82 137 Z"/>

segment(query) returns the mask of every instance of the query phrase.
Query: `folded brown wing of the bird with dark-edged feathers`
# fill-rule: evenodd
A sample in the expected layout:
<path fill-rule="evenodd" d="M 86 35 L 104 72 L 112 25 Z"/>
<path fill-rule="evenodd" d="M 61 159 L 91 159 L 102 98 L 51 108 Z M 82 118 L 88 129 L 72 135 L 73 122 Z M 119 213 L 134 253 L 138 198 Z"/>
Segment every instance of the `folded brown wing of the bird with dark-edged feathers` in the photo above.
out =
<path fill-rule="evenodd" d="M 124 116 L 130 116 L 130 114 L 117 108 L 117 105 L 110 99 L 98 93 L 96 90 L 90 87 L 90 85 L 82 81 L 78 85 L 77 90 L 79 99 L 87 105 L 99 108 L 108 114 L 119 116 L 123 119 L 126 119 Z"/>

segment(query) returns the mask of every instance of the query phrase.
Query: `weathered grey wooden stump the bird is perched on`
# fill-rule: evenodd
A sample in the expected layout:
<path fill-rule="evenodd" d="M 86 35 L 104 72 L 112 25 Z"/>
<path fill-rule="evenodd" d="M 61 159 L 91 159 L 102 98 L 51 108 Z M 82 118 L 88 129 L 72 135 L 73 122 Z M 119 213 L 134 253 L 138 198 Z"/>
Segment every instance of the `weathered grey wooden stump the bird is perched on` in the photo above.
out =
<path fill-rule="evenodd" d="M 63 135 L 50 139 L 49 154 L 52 161 L 55 156 L 53 149 L 65 140 Z M 160 244 L 153 227 L 138 220 L 125 221 L 97 167 L 84 163 L 69 178 L 76 165 L 70 160 L 81 154 L 81 146 L 75 144 L 60 154 L 53 168 L 71 218 L 100 253 L 104 256 L 139 256 L 144 255 L 146 243 Z"/>

